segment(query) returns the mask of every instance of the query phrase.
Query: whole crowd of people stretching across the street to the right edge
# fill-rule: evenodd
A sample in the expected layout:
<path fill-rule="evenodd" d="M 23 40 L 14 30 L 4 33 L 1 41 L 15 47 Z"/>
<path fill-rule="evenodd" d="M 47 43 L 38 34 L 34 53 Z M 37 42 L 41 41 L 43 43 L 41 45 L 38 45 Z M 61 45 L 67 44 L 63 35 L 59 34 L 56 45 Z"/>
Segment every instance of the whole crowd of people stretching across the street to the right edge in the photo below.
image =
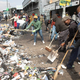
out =
<path fill-rule="evenodd" d="M 28 14 L 17 16 L 17 14 L 15 14 L 11 20 L 14 19 L 15 29 L 21 28 L 28 30 L 30 27 L 32 27 L 31 36 L 34 35 L 34 45 L 36 45 L 37 33 L 40 34 L 42 42 L 45 43 L 42 34 L 42 24 L 45 23 L 45 30 L 50 32 L 51 40 L 53 39 L 54 35 L 56 35 L 55 39 L 59 40 L 59 45 L 61 46 L 59 51 L 66 52 L 67 50 L 72 49 L 70 59 L 67 64 L 67 68 L 72 69 L 75 59 L 78 57 L 80 60 L 80 6 L 77 8 L 77 13 L 78 17 L 76 16 L 76 12 L 74 12 L 72 18 L 69 15 L 61 18 L 58 14 L 54 14 L 51 20 L 46 20 L 45 16 L 42 14 L 41 16 L 38 16 L 35 13 L 33 13 L 31 16 L 28 16 Z M 48 27 L 48 24 L 51 24 L 51 28 Z M 66 48 L 77 31 L 78 34 L 74 40 L 73 45 Z"/>

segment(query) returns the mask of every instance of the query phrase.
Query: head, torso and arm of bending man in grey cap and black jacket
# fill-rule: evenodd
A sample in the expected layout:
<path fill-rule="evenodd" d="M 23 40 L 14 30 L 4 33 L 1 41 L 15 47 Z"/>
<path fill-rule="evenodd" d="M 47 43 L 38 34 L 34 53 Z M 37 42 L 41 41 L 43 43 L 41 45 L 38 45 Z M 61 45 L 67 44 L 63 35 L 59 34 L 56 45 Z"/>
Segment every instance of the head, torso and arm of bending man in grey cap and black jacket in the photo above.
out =
<path fill-rule="evenodd" d="M 70 16 L 65 16 L 62 19 L 62 21 L 68 26 L 69 37 L 66 39 L 64 43 L 61 44 L 61 46 L 65 45 L 65 43 L 68 43 L 70 40 L 72 40 L 77 31 L 77 23 L 74 20 L 72 20 Z"/>

